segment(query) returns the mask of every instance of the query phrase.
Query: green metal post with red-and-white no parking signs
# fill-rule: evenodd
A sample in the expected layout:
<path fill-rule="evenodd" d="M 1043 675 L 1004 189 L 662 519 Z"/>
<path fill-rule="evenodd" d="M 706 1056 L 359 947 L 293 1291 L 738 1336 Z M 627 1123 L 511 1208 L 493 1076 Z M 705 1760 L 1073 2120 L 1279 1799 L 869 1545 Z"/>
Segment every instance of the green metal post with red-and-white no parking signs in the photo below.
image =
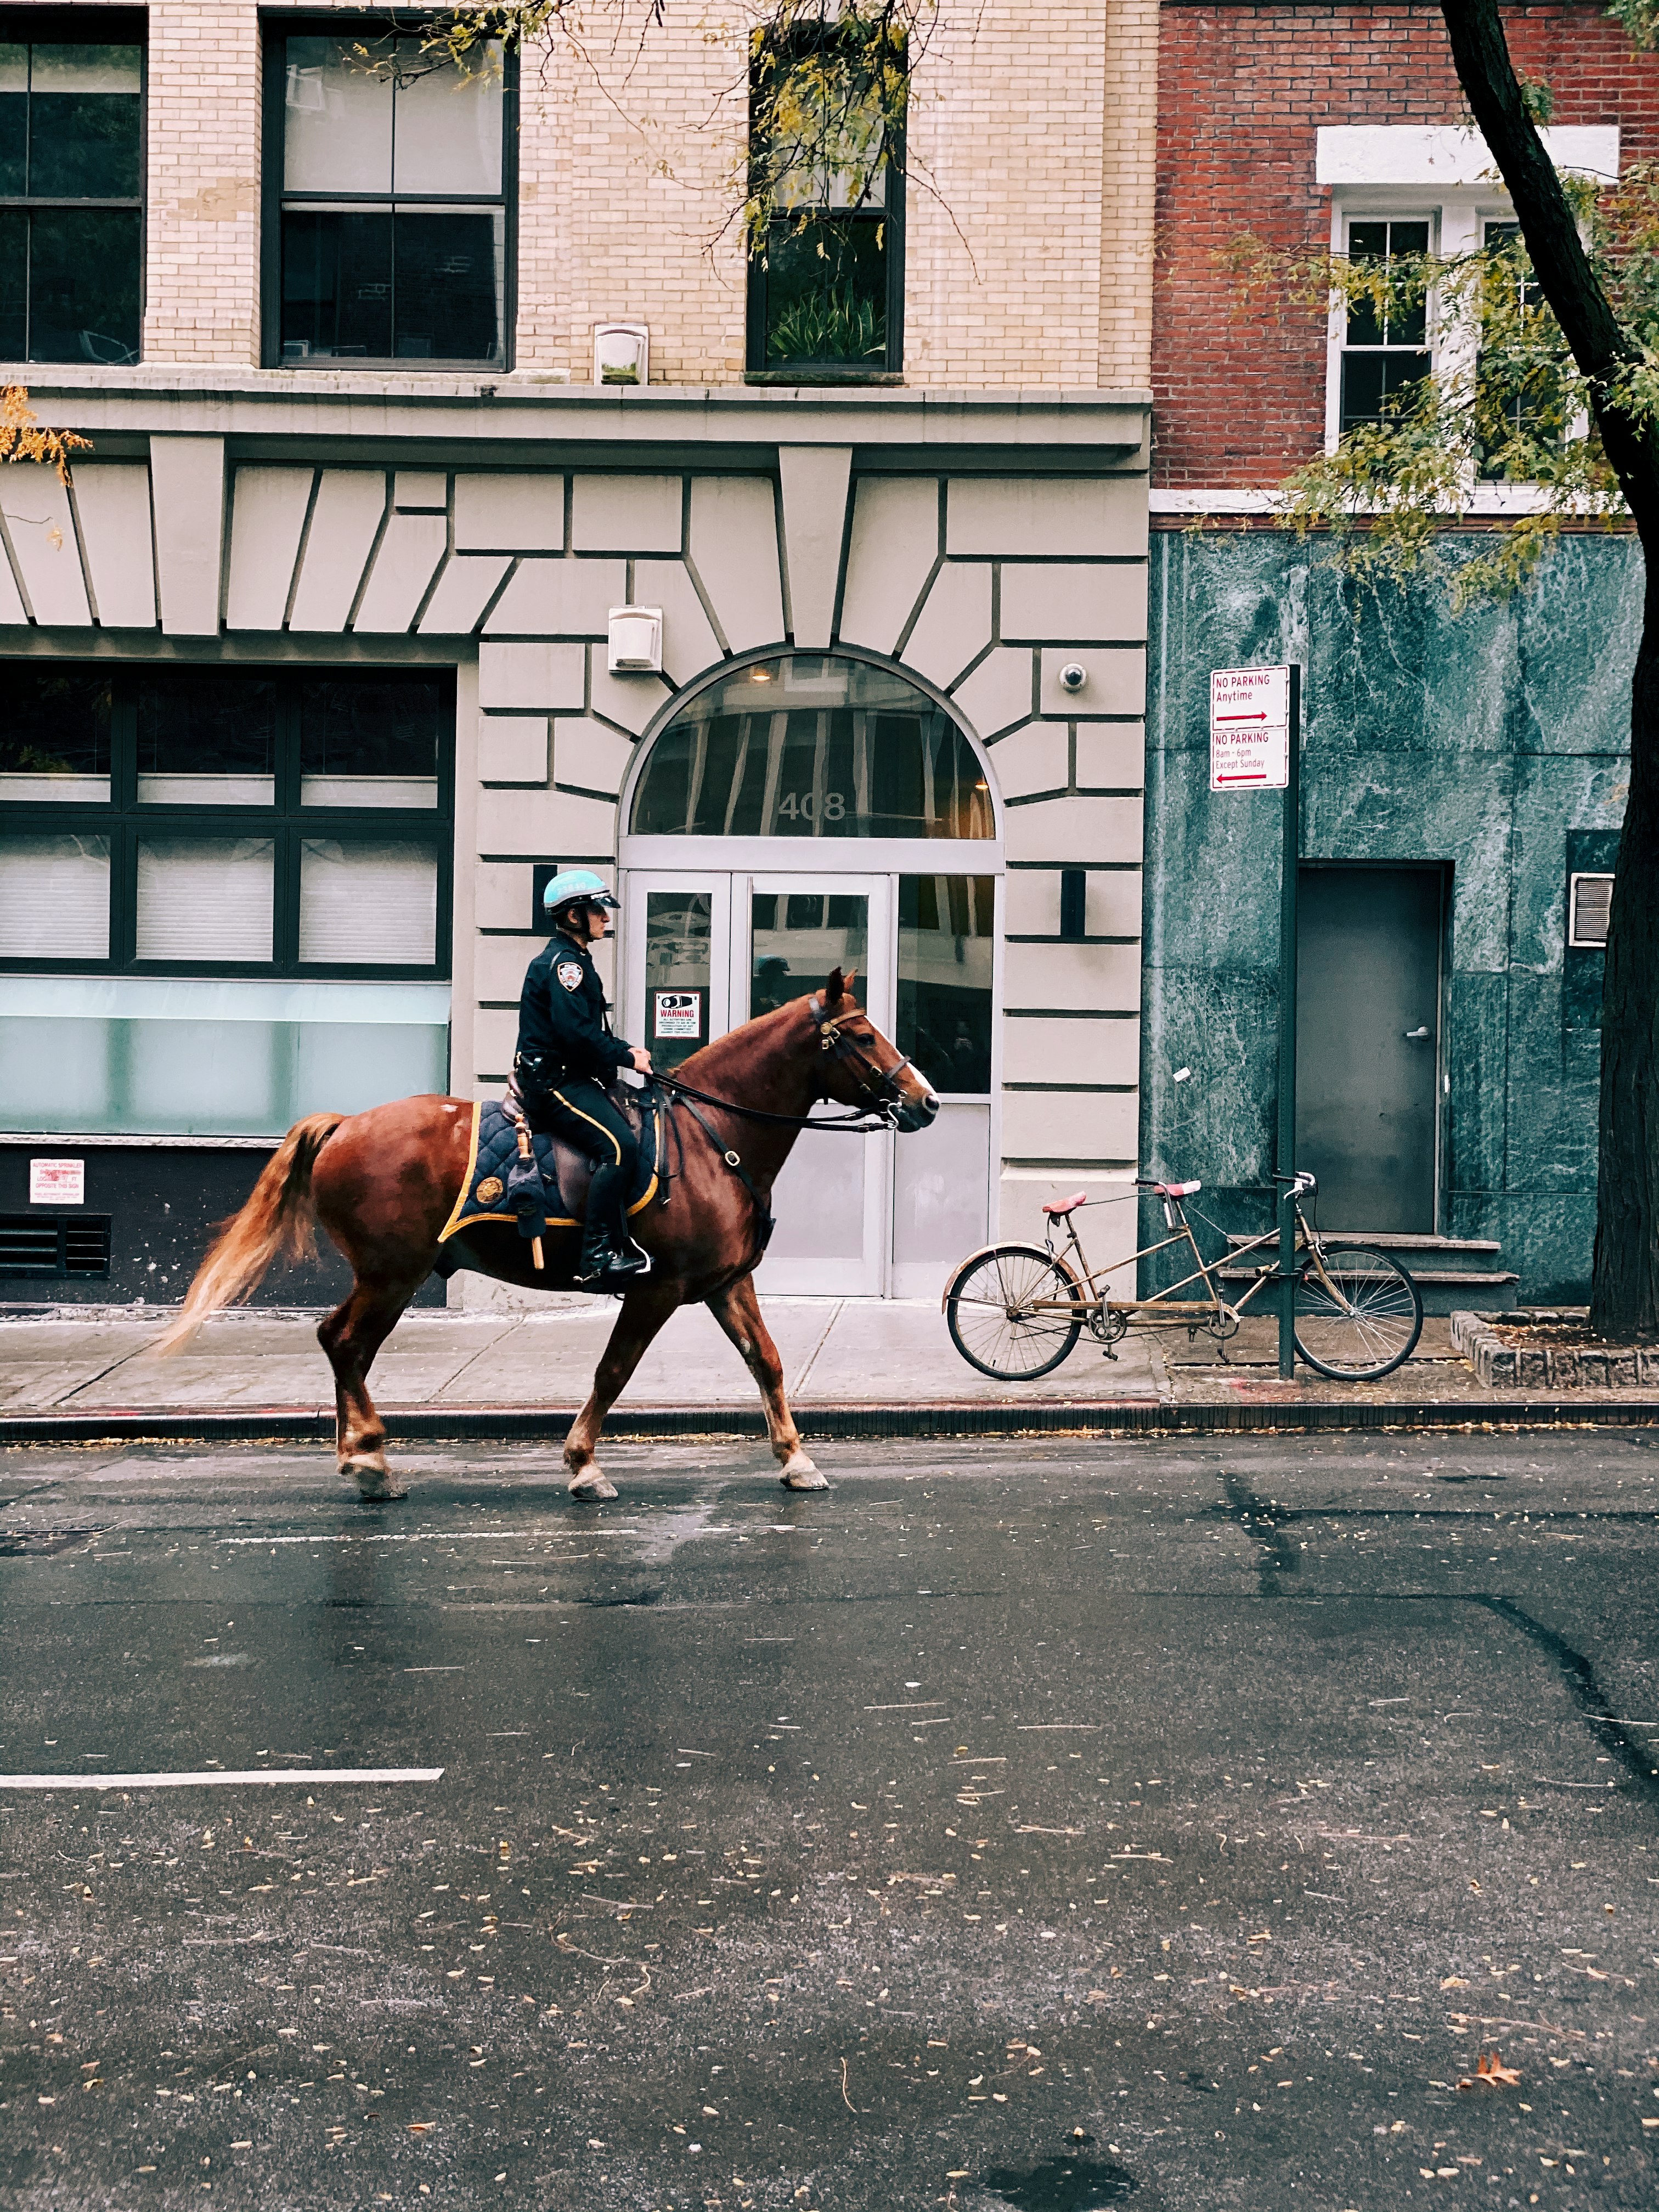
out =
<path fill-rule="evenodd" d="M 1279 876 L 1279 1172 L 1296 1172 L 1296 867 L 1301 860 L 1303 672 L 1217 668 L 1210 675 L 1210 790 L 1283 792 Z M 1296 1214 L 1279 1186 L 1279 1374 L 1296 1371 Z"/>

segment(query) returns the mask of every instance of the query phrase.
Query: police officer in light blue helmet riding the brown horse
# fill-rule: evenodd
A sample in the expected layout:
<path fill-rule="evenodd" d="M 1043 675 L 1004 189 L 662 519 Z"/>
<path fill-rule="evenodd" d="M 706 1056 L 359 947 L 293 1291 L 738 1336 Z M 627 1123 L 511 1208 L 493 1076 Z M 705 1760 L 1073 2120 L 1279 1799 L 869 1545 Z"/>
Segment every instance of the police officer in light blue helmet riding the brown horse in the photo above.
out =
<path fill-rule="evenodd" d="M 593 1161 L 577 1281 L 615 1290 L 646 1274 L 650 1261 L 628 1234 L 639 1146 L 608 1084 L 617 1068 L 648 1075 L 650 1053 L 613 1035 L 588 951 L 608 936 L 617 911 L 604 880 L 566 867 L 542 891 L 542 907 L 553 936 L 524 975 L 513 1073 L 531 1128 L 564 1137 Z"/>

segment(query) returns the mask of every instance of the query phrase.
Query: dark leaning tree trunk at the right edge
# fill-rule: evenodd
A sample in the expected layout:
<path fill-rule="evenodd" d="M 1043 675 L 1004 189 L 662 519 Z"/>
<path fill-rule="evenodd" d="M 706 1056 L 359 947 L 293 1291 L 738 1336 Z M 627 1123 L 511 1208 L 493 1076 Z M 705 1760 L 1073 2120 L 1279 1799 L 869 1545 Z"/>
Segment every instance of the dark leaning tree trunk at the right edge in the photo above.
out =
<path fill-rule="evenodd" d="M 1458 82 L 1498 161 L 1544 299 L 1590 378 L 1595 425 L 1648 568 L 1630 692 L 1630 796 L 1619 836 L 1601 989 L 1601 1159 L 1590 1327 L 1617 1343 L 1659 1338 L 1659 438 L 1606 403 L 1641 349 L 1619 323 L 1533 128 L 1498 0 L 1440 0 Z"/>

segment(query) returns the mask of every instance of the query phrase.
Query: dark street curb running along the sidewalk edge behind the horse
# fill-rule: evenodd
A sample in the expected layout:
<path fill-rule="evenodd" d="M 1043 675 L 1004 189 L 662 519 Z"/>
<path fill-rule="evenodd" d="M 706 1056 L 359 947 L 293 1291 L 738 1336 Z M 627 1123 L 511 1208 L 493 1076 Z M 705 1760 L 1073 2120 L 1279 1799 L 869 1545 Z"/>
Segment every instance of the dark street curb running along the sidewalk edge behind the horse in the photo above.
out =
<path fill-rule="evenodd" d="M 880 1440 L 927 1436 L 1248 1436 L 1287 1429 L 1644 1429 L 1659 1427 L 1659 1398 L 1573 1405 L 1562 1398 L 1506 1398 L 1444 1405 L 845 1405 L 796 1407 L 803 1436 Z M 387 1438 L 414 1442 L 562 1444 L 573 1407 L 465 1407 L 453 1411 L 383 1409 Z M 606 1438 L 739 1436 L 763 1438 L 759 1407 L 639 1407 L 606 1425 Z M 334 1440 L 334 1416 L 294 1407 L 239 1413 L 11 1413 L 0 1444 L 252 1444 Z"/>

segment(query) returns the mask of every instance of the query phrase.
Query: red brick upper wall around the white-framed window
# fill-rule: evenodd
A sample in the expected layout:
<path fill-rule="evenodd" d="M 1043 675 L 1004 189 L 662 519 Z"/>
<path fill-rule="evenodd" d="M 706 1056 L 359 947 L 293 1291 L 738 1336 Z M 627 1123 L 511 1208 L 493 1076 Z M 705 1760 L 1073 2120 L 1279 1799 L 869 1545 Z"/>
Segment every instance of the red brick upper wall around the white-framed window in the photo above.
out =
<path fill-rule="evenodd" d="M 1515 66 L 1557 124 L 1619 124 L 1628 166 L 1659 155 L 1659 55 L 1599 7 L 1504 11 Z M 1325 438 L 1325 316 L 1261 294 L 1217 254 L 1254 232 L 1325 246 L 1321 124 L 1458 124 L 1467 108 L 1436 4 L 1166 0 L 1159 38 L 1152 487 L 1274 484 Z"/>

